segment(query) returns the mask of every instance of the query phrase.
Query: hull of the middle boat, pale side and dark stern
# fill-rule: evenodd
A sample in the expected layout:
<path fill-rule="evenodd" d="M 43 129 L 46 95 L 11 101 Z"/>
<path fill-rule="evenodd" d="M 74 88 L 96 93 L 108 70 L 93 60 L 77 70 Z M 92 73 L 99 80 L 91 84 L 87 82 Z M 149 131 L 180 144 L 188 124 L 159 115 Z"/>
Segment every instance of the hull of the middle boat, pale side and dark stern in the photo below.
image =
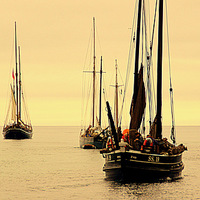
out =
<path fill-rule="evenodd" d="M 96 149 L 106 147 L 106 139 L 102 140 L 95 137 L 80 137 L 80 148 L 85 148 L 87 145 L 93 145 Z"/>

